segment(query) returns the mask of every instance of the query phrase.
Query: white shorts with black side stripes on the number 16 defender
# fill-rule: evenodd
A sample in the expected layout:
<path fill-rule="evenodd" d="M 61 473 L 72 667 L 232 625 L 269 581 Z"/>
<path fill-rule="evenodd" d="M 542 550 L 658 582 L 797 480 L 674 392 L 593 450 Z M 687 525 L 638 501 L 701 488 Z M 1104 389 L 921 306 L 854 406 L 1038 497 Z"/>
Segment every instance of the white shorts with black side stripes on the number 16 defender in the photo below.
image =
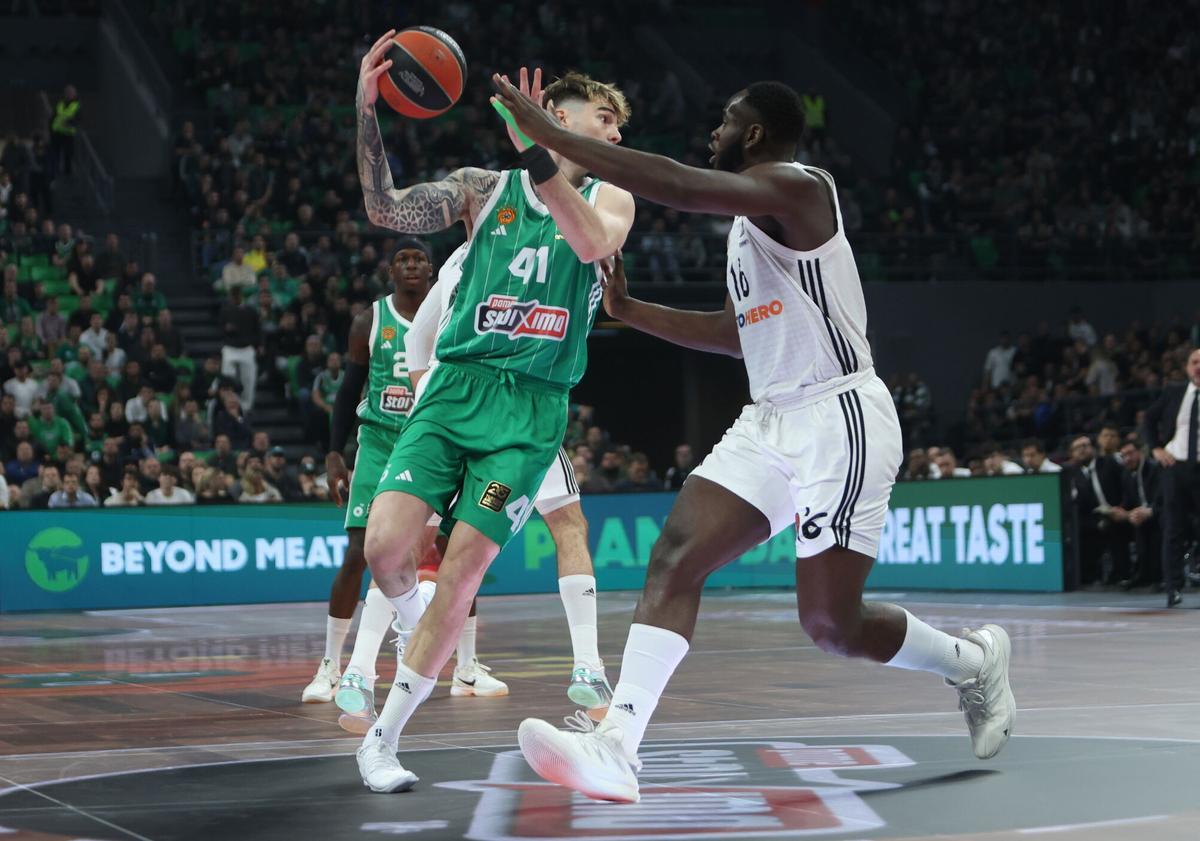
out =
<path fill-rule="evenodd" d="M 833 546 L 875 557 L 902 459 L 892 395 L 875 377 L 794 409 L 751 403 L 692 471 L 746 500 L 796 557 Z"/>

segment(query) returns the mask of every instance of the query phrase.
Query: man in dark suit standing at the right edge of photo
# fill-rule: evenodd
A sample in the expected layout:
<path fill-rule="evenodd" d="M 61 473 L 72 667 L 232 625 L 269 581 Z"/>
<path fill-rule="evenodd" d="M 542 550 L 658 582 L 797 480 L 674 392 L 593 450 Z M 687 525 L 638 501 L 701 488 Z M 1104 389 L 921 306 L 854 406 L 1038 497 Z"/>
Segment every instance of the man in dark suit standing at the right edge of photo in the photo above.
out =
<path fill-rule="evenodd" d="M 1169 385 L 1146 409 L 1142 435 L 1163 465 L 1163 583 L 1166 606 L 1183 601 L 1183 546 L 1200 510 L 1200 350 L 1188 356 L 1186 385 Z"/>

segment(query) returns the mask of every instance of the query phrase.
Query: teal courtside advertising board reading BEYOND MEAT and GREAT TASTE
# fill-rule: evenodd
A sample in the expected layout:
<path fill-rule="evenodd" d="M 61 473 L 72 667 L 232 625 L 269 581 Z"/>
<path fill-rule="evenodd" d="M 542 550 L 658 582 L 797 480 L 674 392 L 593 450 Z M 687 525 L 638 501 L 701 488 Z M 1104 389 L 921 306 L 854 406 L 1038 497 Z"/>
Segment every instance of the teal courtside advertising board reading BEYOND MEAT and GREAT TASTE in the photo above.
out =
<path fill-rule="evenodd" d="M 641 589 L 673 493 L 583 498 L 602 589 Z M 0 515 L 0 611 L 323 601 L 348 537 L 332 505 L 18 511 Z M 793 587 L 792 529 L 714 573 L 709 587 Z M 1060 590 L 1055 476 L 896 486 L 869 587 Z M 557 593 L 539 518 L 505 547 L 484 595 Z"/>

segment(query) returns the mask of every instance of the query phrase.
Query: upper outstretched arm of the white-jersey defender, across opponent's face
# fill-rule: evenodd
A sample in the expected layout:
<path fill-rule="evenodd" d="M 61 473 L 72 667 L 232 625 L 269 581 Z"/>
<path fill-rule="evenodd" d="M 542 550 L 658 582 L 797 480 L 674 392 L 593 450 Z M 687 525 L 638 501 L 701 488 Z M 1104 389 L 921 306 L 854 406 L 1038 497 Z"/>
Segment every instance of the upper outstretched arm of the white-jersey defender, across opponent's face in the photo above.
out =
<path fill-rule="evenodd" d="M 818 191 L 820 182 L 796 167 L 773 161 L 742 172 L 700 169 L 662 155 L 650 155 L 565 131 L 538 103 L 503 79 L 496 80 L 497 98 L 511 112 L 524 134 L 558 152 L 596 178 L 656 204 L 688 212 L 725 216 L 782 216 L 796 212 L 797 198 Z M 722 113 L 722 125 L 734 126 L 746 115 L 734 100 Z M 745 143 L 772 142 L 762 126 L 752 127 Z M 794 143 L 792 144 L 794 146 Z M 818 194 L 818 193 L 817 193 Z"/>

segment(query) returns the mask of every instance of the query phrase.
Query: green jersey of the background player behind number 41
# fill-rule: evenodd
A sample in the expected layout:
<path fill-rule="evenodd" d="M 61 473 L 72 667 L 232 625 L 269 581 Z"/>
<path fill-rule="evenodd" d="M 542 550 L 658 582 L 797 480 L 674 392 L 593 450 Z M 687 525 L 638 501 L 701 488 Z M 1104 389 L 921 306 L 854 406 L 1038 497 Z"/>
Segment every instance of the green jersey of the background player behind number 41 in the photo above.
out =
<path fill-rule="evenodd" d="M 364 423 L 400 432 L 413 409 L 413 383 L 408 379 L 404 359 L 404 334 L 412 324 L 396 312 L 390 294 L 371 307 L 371 340 L 367 346 L 371 365 L 358 415 Z"/>

